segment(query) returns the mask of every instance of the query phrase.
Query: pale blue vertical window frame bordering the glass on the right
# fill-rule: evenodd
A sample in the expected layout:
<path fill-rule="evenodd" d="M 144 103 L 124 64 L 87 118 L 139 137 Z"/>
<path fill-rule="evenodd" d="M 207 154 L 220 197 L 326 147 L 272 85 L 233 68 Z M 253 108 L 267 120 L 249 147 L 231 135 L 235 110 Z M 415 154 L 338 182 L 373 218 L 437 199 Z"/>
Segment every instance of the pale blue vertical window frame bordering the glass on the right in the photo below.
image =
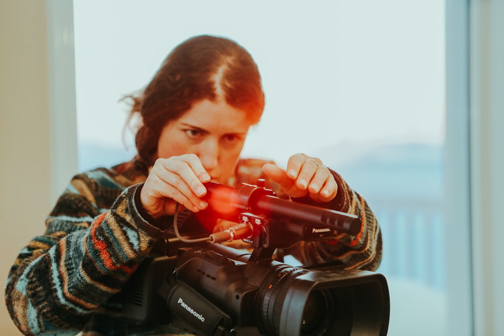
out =
<path fill-rule="evenodd" d="M 469 8 L 445 0 L 446 277 L 450 335 L 473 334 L 469 132 Z M 466 260 L 467 262 L 463 262 Z"/>

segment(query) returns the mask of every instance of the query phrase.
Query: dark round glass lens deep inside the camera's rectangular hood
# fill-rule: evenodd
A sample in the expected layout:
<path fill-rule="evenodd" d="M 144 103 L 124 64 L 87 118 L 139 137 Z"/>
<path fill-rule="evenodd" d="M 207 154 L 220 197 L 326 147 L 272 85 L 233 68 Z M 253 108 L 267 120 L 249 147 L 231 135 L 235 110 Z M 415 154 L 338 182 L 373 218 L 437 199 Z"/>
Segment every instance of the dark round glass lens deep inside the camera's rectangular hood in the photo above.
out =
<path fill-rule="evenodd" d="M 304 306 L 301 334 L 323 335 L 327 330 L 329 317 L 334 313 L 331 300 L 323 291 L 310 292 Z"/>

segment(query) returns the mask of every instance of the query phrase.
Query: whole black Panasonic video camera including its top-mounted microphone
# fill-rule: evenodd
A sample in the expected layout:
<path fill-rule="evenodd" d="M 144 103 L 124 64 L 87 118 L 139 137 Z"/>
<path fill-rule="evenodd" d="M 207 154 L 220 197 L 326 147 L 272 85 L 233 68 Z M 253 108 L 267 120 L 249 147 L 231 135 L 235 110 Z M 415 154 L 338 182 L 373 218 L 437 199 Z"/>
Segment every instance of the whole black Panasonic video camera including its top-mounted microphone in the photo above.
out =
<path fill-rule="evenodd" d="M 300 241 L 356 235 L 358 217 L 280 198 L 264 180 L 257 184 L 207 183 L 207 214 L 237 224 L 195 238 L 180 235 L 175 216 L 175 237 L 121 291 L 122 314 L 201 336 L 386 335 L 390 298 L 383 275 L 272 258 L 277 248 Z M 216 244 L 236 239 L 253 251 Z"/>

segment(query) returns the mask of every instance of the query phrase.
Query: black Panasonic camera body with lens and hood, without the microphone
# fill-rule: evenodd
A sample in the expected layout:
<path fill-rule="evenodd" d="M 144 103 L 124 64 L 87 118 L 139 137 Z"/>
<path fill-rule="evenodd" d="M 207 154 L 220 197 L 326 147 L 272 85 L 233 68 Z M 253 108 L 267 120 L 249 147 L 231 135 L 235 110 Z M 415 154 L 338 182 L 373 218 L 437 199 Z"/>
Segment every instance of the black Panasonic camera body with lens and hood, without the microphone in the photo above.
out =
<path fill-rule="evenodd" d="M 249 256 L 202 243 L 180 257 L 149 258 L 123 290 L 124 315 L 196 335 L 387 334 L 390 298 L 383 275 L 256 263 Z"/>

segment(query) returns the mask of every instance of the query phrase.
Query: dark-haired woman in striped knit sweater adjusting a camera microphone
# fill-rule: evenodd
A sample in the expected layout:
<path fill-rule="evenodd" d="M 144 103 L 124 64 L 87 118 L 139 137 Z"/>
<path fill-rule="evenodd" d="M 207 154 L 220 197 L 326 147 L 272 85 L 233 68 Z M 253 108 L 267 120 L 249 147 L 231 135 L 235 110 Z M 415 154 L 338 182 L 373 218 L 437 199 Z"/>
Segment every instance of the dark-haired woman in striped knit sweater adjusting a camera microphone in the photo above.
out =
<path fill-rule="evenodd" d="M 75 176 L 46 219 L 46 231 L 19 254 L 7 281 L 12 319 L 26 335 L 161 335 L 168 326 L 126 325 L 109 298 L 119 292 L 156 240 L 171 232 L 176 204 L 208 206 L 205 182 L 266 186 L 296 201 L 356 214 L 356 236 L 342 234 L 288 249 L 303 264 L 341 261 L 375 270 L 381 233 L 365 200 L 319 158 L 290 157 L 286 169 L 242 159 L 249 128 L 264 109 L 253 58 L 234 41 L 196 36 L 178 45 L 134 101 L 138 155 L 111 169 Z M 222 229 L 222 228 L 219 228 Z"/>

